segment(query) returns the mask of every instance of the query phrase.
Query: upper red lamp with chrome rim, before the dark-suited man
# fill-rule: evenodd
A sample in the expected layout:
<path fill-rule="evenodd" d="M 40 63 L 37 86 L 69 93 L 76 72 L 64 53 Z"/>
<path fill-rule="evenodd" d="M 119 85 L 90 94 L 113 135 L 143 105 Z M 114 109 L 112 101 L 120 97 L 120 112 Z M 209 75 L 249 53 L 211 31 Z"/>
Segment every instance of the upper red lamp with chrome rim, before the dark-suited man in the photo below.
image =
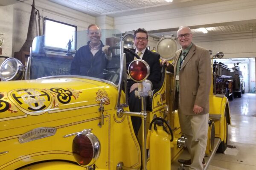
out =
<path fill-rule="evenodd" d="M 142 59 L 134 60 L 128 67 L 128 74 L 136 82 L 142 82 L 148 78 L 150 68 L 147 62 Z"/>

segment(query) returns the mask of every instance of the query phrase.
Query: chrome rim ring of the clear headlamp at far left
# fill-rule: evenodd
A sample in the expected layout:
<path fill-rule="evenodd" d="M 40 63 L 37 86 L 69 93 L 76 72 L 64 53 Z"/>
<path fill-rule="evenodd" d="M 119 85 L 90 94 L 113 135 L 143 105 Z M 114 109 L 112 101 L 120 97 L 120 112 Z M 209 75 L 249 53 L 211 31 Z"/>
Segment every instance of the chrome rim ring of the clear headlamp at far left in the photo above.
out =
<path fill-rule="evenodd" d="M 14 70 L 15 70 L 14 74 L 8 76 L 7 78 L 3 77 L 3 74 L 1 73 L 3 67 L 5 65 L 7 65 L 9 62 L 12 62 L 12 61 L 14 61 L 16 63 L 16 68 L 14 68 Z M 23 64 L 20 62 L 20 60 L 18 60 L 16 58 L 8 58 L 8 59 L 4 60 L 3 63 L 1 64 L 1 66 L 0 66 L 0 78 L 3 81 L 10 81 L 10 80 L 20 79 L 22 74 L 23 74 Z"/>

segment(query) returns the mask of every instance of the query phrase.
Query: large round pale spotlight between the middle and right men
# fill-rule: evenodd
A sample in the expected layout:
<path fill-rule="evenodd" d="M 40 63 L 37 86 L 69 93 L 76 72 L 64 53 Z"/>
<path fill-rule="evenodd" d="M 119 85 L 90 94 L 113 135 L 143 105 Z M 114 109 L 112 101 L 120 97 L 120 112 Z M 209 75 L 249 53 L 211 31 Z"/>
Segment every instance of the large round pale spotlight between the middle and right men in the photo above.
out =
<path fill-rule="evenodd" d="M 157 42 L 157 53 L 160 54 L 161 59 L 172 60 L 176 51 L 177 42 L 171 36 L 163 37 Z"/>

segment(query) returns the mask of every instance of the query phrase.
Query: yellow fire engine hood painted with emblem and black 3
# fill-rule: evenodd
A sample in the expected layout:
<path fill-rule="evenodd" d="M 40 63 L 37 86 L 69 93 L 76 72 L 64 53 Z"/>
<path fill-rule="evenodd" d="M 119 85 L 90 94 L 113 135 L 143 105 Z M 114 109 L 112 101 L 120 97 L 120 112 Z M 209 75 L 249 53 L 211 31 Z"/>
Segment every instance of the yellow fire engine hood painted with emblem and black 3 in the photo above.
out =
<path fill-rule="evenodd" d="M 117 100 L 115 85 L 80 78 L 1 82 L 0 89 L 0 131 L 100 112 L 100 105 L 108 111 Z"/>

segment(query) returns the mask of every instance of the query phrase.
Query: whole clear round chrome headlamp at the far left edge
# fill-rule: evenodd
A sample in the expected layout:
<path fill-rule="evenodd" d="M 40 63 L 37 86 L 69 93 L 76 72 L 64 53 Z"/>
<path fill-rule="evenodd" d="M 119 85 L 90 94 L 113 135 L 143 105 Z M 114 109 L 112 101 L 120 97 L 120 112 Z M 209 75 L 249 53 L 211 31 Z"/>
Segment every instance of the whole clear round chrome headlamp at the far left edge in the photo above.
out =
<path fill-rule="evenodd" d="M 16 58 L 6 59 L 0 66 L 0 78 L 3 81 L 17 80 L 22 77 L 23 65 Z"/>

